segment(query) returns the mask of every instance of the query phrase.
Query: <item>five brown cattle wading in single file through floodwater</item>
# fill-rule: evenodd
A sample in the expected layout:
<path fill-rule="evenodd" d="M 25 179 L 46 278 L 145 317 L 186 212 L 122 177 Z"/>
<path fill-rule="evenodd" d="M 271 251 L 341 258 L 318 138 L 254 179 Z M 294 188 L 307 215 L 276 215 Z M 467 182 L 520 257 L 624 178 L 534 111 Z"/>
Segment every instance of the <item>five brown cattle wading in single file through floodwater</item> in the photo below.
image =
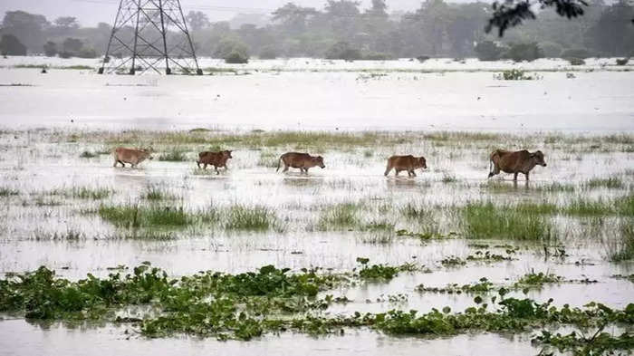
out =
<path fill-rule="evenodd" d="M 203 169 L 207 169 L 207 166 L 214 166 L 216 173 L 220 174 L 218 168 L 226 169 L 226 161 L 232 159 L 230 150 L 222 150 L 219 152 L 200 152 L 198 154 L 198 160 L 196 164 L 198 168 L 202 165 Z M 126 167 L 126 163 L 137 167 L 137 165 L 146 160 L 153 159 L 151 151 L 148 149 L 126 149 L 117 148 L 113 151 L 114 167 L 117 164 L 121 164 L 122 167 Z M 284 153 L 277 161 L 277 169 L 280 170 L 280 164 L 283 163 L 283 172 L 288 168 L 299 168 L 302 173 L 308 174 L 308 169 L 313 167 L 326 168 L 323 163 L 322 156 L 311 156 L 308 153 L 300 152 L 287 152 Z M 546 162 L 543 160 L 542 151 L 529 152 L 527 150 L 508 151 L 504 149 L 496 149 L 490 156 L 489 164 L 489 178 L 499 174 L 500 171 L 505 173 L 513 173 L 514 180 L 517 180 L 519 173 L 524 174 L 526 180 L 535 166 L 546 167 Z M 427 161 L 424 157 L 408 156 L 392 156 L 388 159 L 388 167 L 385 169 L 384 175 L 387 176 L 389 172 L 394 169 L 396 175 L 403 170 L 408 172 L 409 177 L 416 177 L 414 169 L 420 168 L 421 171 L 427 168 Z"/>

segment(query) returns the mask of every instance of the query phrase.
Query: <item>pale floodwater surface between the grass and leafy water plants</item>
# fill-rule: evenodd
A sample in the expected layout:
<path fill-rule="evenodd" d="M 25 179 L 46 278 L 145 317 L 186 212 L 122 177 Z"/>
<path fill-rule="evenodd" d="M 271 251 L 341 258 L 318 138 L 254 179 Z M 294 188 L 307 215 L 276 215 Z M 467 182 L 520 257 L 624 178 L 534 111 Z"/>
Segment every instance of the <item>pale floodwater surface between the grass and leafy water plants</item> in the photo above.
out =
<path fill-rule="evenodd" d="M 193 163 L 195 151 L 187 152 L 187 162 L 155 159 L 136 169 L 112 168 L 110 155 L 79 159 L 82 151 L 97 151 L 103 144 L 58 143 L 50 136 L 52 130 L 60 128 L 117 131 L 197 127 L 238 132 L 337 128 L 634 133 L 634 73 L 575 75 L 575 79 L 566 79 L 565 72 L 543 72 L 542 80 L 503 82 L 494 80 L 491 72 L 388 72 L 378 79 L 360 78 L 358 72 L 254 72 L 189 78 L 99 76 L 62 70 L 42 75 L 36 70 L 0 68 L 0 84 L 34 85 L 0 87 L 0 127 L 5 129 L 0 134 L 0 187 L 19 191 L 16 196 L 0 197 L 0 274 L 46 265 L 74 280 L 88 273 L 107 275 L 108 267 L 134 266 L 143 261 L 174 276 L 201 270 L 245 272 L 269 264 L 293 270 L 320 266 L 347 272 L 359 267 L 357 257 L 368 257 L 372 264 L 425 265 L 431 273 L 401 273 L 389 283 L 329 291 L 352 302 L 333 305 L 327 313 L 379 313 L 394 308 L 428 312 L 444 306 L 462 311 L 473 305 L 473 295 L 418 293 L 416 287 L 469 284 L 481 277 L 495 284 L 512 284 L 531 271 L 558 274 L 568 280 L 597 280 L 593 284 L 546 285 L 528 293 L 535 300 L 553 298 L 556 305 L 573 306 L 596 301 L 623 308 L 632 302 L 634 284 L 612 276 L 634 273 L 634 264 L 606 261 L 606 244 L 616 238 L 618 221 L 614 218 L 601 221 L 604 226 L 592 227 L 597 224 L 595 220 L 557 217 L 565 257 L 543 255 L 540 245 L 511 242 L 520 247 L 511 261 L 469 262 L 459 267 L 446 267 L 439 261 L 450 255 L 473 255 L 477 250 L 469 246 L 473 241 L 421 241 L 385 233 L 320 231 L 316 227 L 320 209 L 339 203 L 362 205 L 360 218 L 365 222 L 387 219 L 395 229 L 410 231 L 420 226 L 399 219 L 399 207 L 408 203 L 432 207 L 438 210 L 434 216 L 438 230 L 448 234 L 458 227 L 455 216 L 444 207 L 459 207 L 468 200 L 557 204 L 579 194 L 619 197 L 631 192 L 634 185 L 634 157 L 620 146 L 605 143 L 604 149 L 592 150 L 581 140 L 575 147 L 563 147 L 555 141 L 544 148 L 538 146 L 543 141 L 529 142 L 533 146 L 528 149 L 544 150 L 548 167 L 535 168 L 529 183 L 514 185 L 509 176 L 494 178 L 506 188 L 493 191 L 485 185 L 488 147 L 495 145 L 490 142 L 440 145 L 421 141 L 400 145 L 397 152 L 383 147 L 345 152 L 331 148 L 321 153 L 326 168 L 312 168 L 307 177 L 275 172 L 270 159 L 263 159 L 266 154 L 275 160 L 283 149 L 235 149 L 229 170 L 216 176 L 198 174 Z M 43 130 L 26 131 L 33 128 Z M 519 143 L 500 144 L 516 147 Z M 429 168 L 418 172 L 418 178 L 385 178 L 385 158 L 395 153 L 423 154 Z M 588 179 L 607 177 L 621 178 L 625 188 L 581 193 L 542 189 L 553 182 L 579 188 Z M 46 194 L 72 187 L 112 188 L 115 194 L 101 201 Z M 126 239 L 99 216 L 84 213 L 100 204 L 140 201 L 149 187 L 168 190 L 177 197 L 174 204 L 191 210 L 231 204 L 269 207 L 282 222 L 283 231 L 245 233 L 194 227 L 176 231 L 177 238 L 169 240 Z M 81 236 L 72 241 L 47 238 L 69 231 Z M 504 254 L 504 249 L 490 250 Z M 405 296 L 389 302 L 390 295 L 398 294 Z M 525 355 L 539 351 L 531 346 L 530 335 L 524 334 L 478 333 L 426 340 L 350 330 L 344 336 L 324 338 L 286 332 L 253 342 L 187 337 L 147 340 L 134 333 L 127 340 L 128 336 L 124 327 L 110 324 L 73 327 L 5 320 L 0 321 L 0 353 L 72 355 L 90 349 L 97 354 L 133 350 L 135 354 L 406 355 L 425 350 L 438 355 Z"/>

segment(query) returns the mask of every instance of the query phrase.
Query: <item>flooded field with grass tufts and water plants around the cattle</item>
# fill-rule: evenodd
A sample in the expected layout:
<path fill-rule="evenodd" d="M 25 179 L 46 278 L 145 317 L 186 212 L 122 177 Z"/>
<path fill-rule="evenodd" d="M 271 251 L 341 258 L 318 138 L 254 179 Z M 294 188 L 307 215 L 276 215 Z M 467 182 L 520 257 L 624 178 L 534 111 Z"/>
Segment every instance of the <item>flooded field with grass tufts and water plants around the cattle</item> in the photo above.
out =
<path fill-rule="evenodd" d="M 0 69 L 2 352 L 631 350 L 634 74 L 251 70 Z"/>

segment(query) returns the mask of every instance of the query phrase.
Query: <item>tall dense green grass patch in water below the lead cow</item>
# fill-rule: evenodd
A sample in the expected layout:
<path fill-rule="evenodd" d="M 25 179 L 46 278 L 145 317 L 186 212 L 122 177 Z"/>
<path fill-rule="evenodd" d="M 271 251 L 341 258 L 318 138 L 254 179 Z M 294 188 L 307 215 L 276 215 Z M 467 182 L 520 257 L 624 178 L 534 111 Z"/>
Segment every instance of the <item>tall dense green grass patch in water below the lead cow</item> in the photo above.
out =
<path fill-rule="evenodd" d="M 463 208 L 465 236 L 529 241 L 556 238 L 550 220 L 534 211 L 536 208 L 526 206 L 524 211 L 518 211 L 492 202 L 468 203 Z"/>

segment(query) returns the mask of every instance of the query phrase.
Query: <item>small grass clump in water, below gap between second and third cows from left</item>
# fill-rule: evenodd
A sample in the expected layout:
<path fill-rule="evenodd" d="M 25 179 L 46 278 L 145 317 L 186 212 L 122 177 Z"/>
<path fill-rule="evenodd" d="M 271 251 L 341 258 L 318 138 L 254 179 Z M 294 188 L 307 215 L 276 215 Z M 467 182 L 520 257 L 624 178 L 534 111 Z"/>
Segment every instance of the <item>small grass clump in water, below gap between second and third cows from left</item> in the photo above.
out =
<path fill-rule="evenodd" d="M 228 208 L 227 230 L 265 231 L 279 227 L 277 216 L 268 207 L 235 205 Z"/>

